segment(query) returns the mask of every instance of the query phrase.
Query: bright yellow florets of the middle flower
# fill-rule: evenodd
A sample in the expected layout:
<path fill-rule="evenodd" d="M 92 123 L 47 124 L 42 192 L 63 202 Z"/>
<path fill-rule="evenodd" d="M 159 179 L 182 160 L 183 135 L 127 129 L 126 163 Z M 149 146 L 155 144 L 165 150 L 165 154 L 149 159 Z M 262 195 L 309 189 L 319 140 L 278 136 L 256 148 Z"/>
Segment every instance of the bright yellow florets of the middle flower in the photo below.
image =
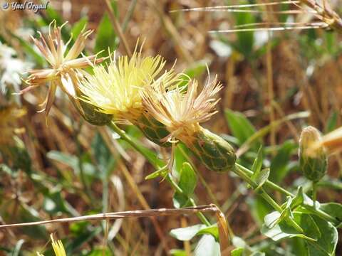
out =
<path fill-rule="evenodd" d="M 98 108 L 99 112 L 113 114 L 116 120 L 130 122 L 142 114 L 142 91 L 149 85 L 162 68 L 165 60 L 160 55 L 142 57 L 140 52 L 131 58 L 120 56 L 111 59 L 108 66 L 96 66 L 93 75 L 87 75 L 81 81 L 81 100 Z M 170 77 L 165 73 L 160 78 Z"/>

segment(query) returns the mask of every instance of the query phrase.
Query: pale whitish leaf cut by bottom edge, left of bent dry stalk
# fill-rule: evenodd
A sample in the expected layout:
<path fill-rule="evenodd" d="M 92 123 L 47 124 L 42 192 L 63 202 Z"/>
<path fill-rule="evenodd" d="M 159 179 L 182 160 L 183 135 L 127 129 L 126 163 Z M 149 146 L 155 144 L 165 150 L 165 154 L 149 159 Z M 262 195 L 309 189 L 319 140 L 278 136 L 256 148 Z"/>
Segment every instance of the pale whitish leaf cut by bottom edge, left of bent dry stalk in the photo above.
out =
<path fill-rule="evenodd" d="M 198 241 L 194 256 L 219 256 L 219 242 L 212 235 L 203 235 Z"/>

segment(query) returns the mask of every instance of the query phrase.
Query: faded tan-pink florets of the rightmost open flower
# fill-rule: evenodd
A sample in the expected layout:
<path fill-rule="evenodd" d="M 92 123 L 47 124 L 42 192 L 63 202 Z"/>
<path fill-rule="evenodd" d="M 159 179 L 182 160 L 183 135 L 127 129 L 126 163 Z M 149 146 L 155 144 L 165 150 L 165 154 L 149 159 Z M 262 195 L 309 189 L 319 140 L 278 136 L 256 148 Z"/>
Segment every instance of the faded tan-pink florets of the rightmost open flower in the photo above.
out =
<path fill-rule="evenodd" d="M 192 135 L 200 129 L 199 123 L 208 121 L 217 113 L 215 105 L 219 99 L 216 95 L 222 88 L 217 78 L 207 82 L 199 94 L 197 80 L 188 83 L 186 92 L 185 87 L 179 86 L 167 90 L 172 86 L 160 86 L 160 82 L 155 81 L 147 87 L 143 99 L 146 109 L 170 132 L 165 140 Z"/>

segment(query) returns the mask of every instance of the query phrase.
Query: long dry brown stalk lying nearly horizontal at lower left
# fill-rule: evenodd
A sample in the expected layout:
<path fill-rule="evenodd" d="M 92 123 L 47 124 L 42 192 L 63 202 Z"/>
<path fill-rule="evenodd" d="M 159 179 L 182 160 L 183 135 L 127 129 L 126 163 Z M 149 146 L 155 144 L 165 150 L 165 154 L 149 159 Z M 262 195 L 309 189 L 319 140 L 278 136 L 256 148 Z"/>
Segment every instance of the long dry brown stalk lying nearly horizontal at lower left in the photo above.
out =
<path fill-rule="evenodd" d="M 72 218 L 58 218 L 55 220 L 41 220 L 29 223 L 14 223 L 0 225 L 0 228 L 16 228 L 16 227 L 27 227 L 33 225 L 46 225 L 51 223 L 73 223 L 84 220 L 116 220 L 120 218 L 142 218 L 142 217 L 158 217 L 158 216 L 172 216 L 172 215 L 183 215 L 183 214 L 194 214 L 194 213 L 217 213 L 217 206 L 193 206 L 187 208 L 173 209 L 173 208 L 159 208 L 150 210 L 127 210 L 115 213 L 98 213 L 92 215 L 83 215 Z"/>

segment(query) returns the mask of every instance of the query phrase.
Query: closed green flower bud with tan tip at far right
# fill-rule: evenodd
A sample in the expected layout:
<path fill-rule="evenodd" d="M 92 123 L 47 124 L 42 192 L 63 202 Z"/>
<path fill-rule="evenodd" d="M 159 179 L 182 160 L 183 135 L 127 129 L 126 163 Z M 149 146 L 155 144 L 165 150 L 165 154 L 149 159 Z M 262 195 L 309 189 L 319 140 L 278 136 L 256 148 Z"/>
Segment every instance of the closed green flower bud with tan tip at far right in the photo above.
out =
<path fill-rule="evenodd" d="M 306 127 L 299 139 L 299 165 L 303 174 L 310 181 L 319 181 L 328 167 L 328 158 L 321 142 L 321 134 L 315 127 Z"/>

